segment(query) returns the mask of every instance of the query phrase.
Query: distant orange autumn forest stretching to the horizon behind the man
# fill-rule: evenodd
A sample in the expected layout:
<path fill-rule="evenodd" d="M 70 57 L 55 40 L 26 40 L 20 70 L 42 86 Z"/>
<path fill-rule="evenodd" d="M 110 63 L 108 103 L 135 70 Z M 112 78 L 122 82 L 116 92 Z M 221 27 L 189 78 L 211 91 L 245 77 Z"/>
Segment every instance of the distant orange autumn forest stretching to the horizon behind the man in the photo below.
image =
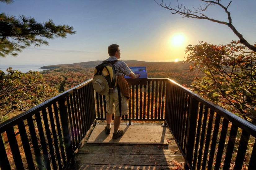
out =
<path fill-rule="evenodd" d="M 189 65 L 180 62 L 143 62 L 124 61 L 129 67 L 146 66 L 148 78 L 170 78 L 177 83 L 189 87 L 195 77 L 203 77 L 201 72 L 189 72 Z M 59 92 L 66 91 L 93 77 L 95 66 L 101 61 L 90 61 L 74 64 L 44 66 L 50 68 L 42 73 L 47 85 L 55 87 Z"/>

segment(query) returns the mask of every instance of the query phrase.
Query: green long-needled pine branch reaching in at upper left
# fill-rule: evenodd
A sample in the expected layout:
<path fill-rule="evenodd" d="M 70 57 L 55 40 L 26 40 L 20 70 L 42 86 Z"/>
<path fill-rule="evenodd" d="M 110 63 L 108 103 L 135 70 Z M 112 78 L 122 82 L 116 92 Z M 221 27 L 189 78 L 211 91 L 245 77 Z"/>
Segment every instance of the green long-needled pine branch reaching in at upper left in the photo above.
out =
<path fill-rule="evenodd" d="M 33 44 L 35 47 L 49 45 L 39 37 L 47 39 L 66 38 L 67 34 L 76 34 L 73 27 L 69 25 L 55 25 L 52 19 L 44 23 L 37 22 L 32 17 L 20 15 L 17 19 L 14 16 L 0 14 L 0 56 L 17 56 L 17 52 Z M 13 41 L 11 41 L 11 39 Z"/>

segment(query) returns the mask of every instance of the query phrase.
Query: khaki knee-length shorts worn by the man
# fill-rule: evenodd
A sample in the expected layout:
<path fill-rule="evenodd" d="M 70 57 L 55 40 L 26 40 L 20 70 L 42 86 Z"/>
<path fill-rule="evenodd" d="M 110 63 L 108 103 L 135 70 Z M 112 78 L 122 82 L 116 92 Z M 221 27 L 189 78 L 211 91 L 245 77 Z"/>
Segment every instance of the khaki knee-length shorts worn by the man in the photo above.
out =
<path fill-rule="evenodd" d="M 128 107 L 127 107 L 127 99 L 121 93 L 121 108 L 122 108 L 122 116 L 128 114 Z M 116 116 L 120 116 L 119 111 L 119 101 L 118 101 L 118 92 L 110 92 L 106 94 L 106 109 L 108 114 L 112 115 L 115 112 Z"/>

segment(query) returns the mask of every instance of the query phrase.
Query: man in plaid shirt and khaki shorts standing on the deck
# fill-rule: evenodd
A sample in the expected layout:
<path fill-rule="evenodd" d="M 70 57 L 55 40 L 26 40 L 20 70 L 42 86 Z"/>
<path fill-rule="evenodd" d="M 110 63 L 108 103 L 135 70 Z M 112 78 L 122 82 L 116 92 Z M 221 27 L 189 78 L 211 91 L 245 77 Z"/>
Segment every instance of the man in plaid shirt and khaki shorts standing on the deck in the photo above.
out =
<path fill-rule="evenodd" d="M 106 59 L 106 61 L 113 61 L 113 60 L 120 59 L 121 53 L 120 53 L 119 45 L 112 44 L 108 46 L 108 54 L 110 57 Z M 113 65 L 115 67 L 116 76 L 125 74 L 126 76 L 129 76 L 133 79 L 136 79 L 140 76 L 140 74 L 134 74 L 131 71 L 131 69 L 123 61 L 117 61 Z M 119 130 L 119 126 L 121 123 L 121 116 L 128 114 L 127 99 L 121 93 L 121 115 L 120 115 L 117 87 L 115 87 L 112 90 L 109 90 L 109 93 L 106 94 L 106 109 L 107 109 L 107 113 L 106 113 L 107 126 L 105 128 L 105 131 L 106 131 L 106 134 L 110 134 L 112 115 L 115 112 L 113 139 L 116 139 L 124 134 L 123 130 Z"/>

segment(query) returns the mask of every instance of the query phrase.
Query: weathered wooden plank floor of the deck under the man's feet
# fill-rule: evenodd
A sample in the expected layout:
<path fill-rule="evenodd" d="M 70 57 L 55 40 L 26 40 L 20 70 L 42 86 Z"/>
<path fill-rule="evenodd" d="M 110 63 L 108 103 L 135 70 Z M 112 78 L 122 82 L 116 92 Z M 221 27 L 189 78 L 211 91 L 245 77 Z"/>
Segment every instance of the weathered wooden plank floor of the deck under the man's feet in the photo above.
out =
<path fill-rule="evenodd" d="M 92 127 L 79 148 L 76 169 L 172 169 L 173 160 L 184 165 L 184 158 L 168 128 L 160 123 L 120 125 L 121 138 L 105 133 L 106 123 Z M 136 132 L 136 133 L 135 133 Z"/>

